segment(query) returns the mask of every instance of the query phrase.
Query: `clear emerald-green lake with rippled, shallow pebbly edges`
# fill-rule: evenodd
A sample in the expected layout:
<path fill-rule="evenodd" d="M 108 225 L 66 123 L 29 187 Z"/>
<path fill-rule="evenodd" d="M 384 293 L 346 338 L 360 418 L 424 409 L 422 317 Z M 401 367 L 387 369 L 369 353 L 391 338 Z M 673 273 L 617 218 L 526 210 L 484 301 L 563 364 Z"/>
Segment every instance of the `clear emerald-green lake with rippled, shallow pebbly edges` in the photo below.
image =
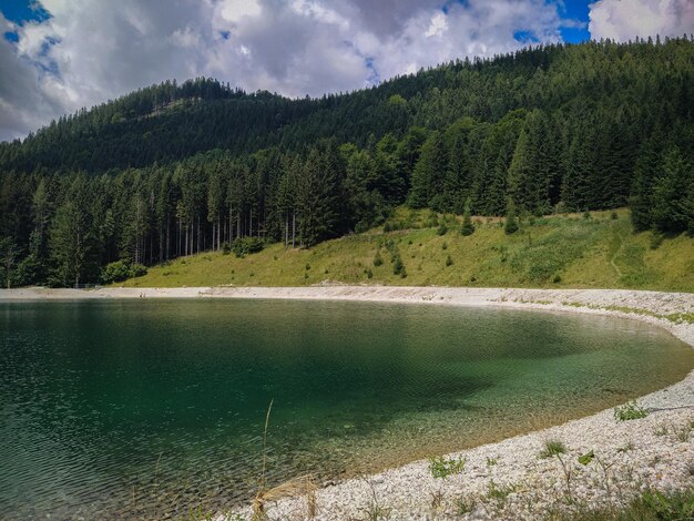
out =
<path fill-rule="evenodd" d="M 0 303 L 0 518 L 162 518 L 377 471 L 682 379 L 642 323 L 447 306 Z"/>

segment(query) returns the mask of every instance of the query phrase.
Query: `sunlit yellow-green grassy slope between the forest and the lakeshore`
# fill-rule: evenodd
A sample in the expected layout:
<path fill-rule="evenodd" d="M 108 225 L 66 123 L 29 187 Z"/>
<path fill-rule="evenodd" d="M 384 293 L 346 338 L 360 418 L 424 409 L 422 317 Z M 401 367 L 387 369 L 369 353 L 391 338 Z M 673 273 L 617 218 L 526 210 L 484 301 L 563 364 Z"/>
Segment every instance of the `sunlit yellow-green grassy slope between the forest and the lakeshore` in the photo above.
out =
<path fill-rule="evenodd" d="M 349 235 L 310 249 L 285 249 L 274 244 L 236 258 L 205 253 L 152 267 L 124 286 L 305 286 L 324 280 L 346 284 L 634 288 L 694 292 L 694 238 L 680 235 L 651 248 L 650 232 L 633 234 L 629 213 L 594 212 L 525 222 L 504 235 L 499 219 L 477 219 L 474 234 L 459 233 L 459 218 L 449 231 L 382 228 Z M 422 212 L 399 208 L 395 221 L 422 226 Z M 431 223 L 429 223 L 431 224 Z M 397 245 L 407 277 L 394 275 L 390 253 L 380 247 L 381 266 L 374 257 L 386 241 Z M 452 264 L 447 266 L 450 255 Z M 372 277 L 368 278 L 368 270 Z M 560 280 L 554 282 L 558 277 Z"/>

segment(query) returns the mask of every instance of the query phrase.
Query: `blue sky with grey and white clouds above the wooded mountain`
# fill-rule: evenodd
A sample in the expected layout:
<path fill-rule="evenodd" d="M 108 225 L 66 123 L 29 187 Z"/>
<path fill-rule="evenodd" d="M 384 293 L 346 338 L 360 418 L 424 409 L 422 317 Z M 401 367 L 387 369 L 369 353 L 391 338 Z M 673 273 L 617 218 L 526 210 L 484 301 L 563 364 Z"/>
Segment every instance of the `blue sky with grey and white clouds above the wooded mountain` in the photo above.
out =
<path fill-rule="evenodd" d="M 167 79 L 292 98 L 528 44 L 694 32 L 694 0 L 0 0 L 0 141 Z"/>

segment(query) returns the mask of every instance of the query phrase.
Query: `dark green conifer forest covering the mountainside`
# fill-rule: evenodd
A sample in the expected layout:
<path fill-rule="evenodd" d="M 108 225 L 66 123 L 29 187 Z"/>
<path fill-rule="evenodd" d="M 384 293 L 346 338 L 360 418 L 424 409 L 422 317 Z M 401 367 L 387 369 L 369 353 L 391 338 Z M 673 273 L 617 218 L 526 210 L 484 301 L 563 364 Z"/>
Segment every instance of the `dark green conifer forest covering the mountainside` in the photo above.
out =
<path fill-rule="evenodd" d="M 404 204 L 629 206 L 635 231 L 694 234 L 694 38 L 537 45 L 320 99 L 139 90 L 0 143 L 0 277 L 75 286 L 307 248 Z"/>

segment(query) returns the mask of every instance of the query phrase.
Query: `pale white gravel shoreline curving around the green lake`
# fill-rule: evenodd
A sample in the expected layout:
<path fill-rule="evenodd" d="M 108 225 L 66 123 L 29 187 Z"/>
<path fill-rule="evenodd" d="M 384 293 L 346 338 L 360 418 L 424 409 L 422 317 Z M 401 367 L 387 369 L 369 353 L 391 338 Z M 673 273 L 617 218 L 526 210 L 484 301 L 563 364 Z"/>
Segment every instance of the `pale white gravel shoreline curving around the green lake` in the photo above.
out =
<path fill-rule="evenodd" d="M 678 320 L 694 313 L 694 294 L 624 289 L 511 289 L 394 286 L 100 288 L 92 290 L 21 288 L 0 290 L 0 302 L 111 298 L 279 298 L 392 302 L 448 306 L 494 306 L 583 313 L 631 318 L 659 326 L 694 348 L 694 324 Z M 667 317 L 667 318 L 666 318 Z M 625 368 L 627 370 L 627 368 Z M 382 509 L 389 519 L 537 519 L 552 512 L 623 504 L 649 488 L 672 491 L 694 482 L 694 370 L 681 381 L 637 399 L 651 413 L 616 421 L 612 410 L 447 458 L 465 458 L 460 474 L 433 479 L 427 461 L 415 461 L 316 492 L 316 519 L 364 517 Z M 686 435 L 683 436 L 683 432 Z M 690 435 L 688 432 L 692 431 Z M 547 440 L 567 447 L 572 499 L 567 505 L 565 474 L 557 458 L 540 459 Z M 610 467 L 581 466 L 576 458 L 594 450 Z M 487 458 L 493 458 L 489 464 Z M 468 504 L 469 503 L 469 504 Z M 474 505 L 472 507 L 472 503 Z M 266 505 L 271 518 L 305 518 L 305 498 Z M 249 508 L 233 514 L 248 517 Z M 217 519 L 227 519 L 220 514 Z"/>

